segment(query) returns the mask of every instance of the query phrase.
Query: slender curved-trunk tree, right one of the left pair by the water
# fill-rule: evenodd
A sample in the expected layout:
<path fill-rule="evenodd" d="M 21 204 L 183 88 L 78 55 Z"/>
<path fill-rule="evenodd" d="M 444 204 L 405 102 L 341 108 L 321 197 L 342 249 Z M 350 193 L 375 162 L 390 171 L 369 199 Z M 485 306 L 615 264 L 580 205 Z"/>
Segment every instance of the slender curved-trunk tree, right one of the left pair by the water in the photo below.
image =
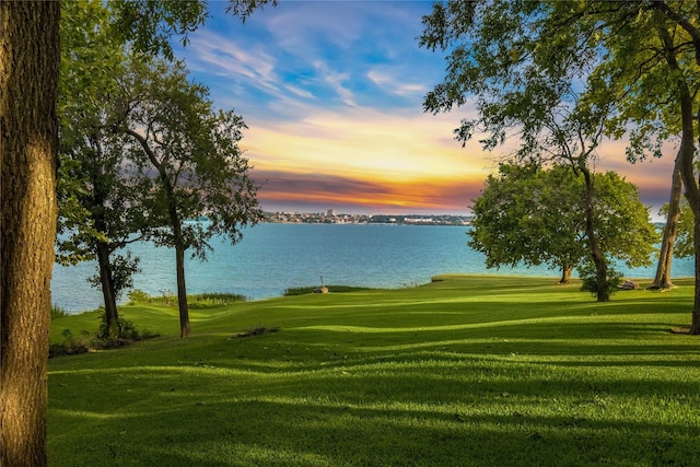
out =
<path fill-rule="evenodd" d="M 121 83 L 126 108 L 121 131 L 131 142 L 129 157 L 142 180 L 140 196 L 151 215 L 151 237 L 175 249 L 180 336 L 190 334 L 185 281 L 185 250 L 206 259 L 215 234 L 240 241 L 241 227 L 262 213 L 257 187 L 248 177 L 248 161 L 237 145 L 245 128 L 233 112 L 214 110 L 209 90 L 190 83 L 175 62 L 131 62 Z M 185 222 L 206 217 L 208 222 Z"/>

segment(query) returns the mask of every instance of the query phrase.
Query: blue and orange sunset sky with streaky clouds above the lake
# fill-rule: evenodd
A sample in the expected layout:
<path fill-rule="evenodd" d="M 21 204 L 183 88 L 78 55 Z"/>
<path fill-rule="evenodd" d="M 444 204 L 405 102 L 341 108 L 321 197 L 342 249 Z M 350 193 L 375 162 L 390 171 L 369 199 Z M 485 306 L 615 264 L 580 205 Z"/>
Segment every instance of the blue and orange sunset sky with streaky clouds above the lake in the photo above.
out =
<path fill-rule="evenodd" d="M 280 0 L 245 23 L 211 1 L 211 17 L 175 55 L 248 129 L 240 145 L 266 211 L 369 214 L 470 213 L 504 149 L 453 130 L 471 109 L 423 112 L 445 75 L 445 55 L 420 48 L 431 1 Z M 674 148 L 630 164 L 606 141 L 598 171 L 635 184 L 652 217 L 667 202 Z"/>

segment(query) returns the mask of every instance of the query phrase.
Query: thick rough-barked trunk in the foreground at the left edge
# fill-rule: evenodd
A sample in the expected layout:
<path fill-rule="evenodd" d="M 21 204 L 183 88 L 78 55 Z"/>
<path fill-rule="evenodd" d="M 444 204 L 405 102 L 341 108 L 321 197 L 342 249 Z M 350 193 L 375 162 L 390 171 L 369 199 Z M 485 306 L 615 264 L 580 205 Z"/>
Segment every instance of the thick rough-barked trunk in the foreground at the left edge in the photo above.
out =
<path fill-rule="evenodd" d="M 0 465 L 44 466 L 60 4 L 0 1 Z"/>

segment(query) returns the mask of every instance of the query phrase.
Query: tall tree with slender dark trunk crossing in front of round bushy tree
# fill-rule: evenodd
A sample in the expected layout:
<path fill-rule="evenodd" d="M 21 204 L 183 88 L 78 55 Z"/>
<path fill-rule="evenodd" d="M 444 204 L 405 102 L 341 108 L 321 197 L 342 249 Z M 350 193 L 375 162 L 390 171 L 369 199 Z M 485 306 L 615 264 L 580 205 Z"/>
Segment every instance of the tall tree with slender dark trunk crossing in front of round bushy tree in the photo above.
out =
<path fill-rule="evenodd" d="M 557 2 L 435 3 L 423 17 L 420 44 L 452 51 L 445 81 L 428 93 L 423 106 L 448 112 L 474 98 L 477 117 L 455 130 L 463 143 L 481 132 L 481 144 L 492 150 L 513 133 L 521 141 L 516 160 L 565 164 L 583 177 L 586 243 L 598 301 L 606 302 L 608 265 L 593 224 L 592 167 L 612 103 L 592 98 L 608 82 L 581 79 L 598 60 L 599 39 L 587 34 L 595 22 L 581 16 L 561 31 L 565 13 Z"/>

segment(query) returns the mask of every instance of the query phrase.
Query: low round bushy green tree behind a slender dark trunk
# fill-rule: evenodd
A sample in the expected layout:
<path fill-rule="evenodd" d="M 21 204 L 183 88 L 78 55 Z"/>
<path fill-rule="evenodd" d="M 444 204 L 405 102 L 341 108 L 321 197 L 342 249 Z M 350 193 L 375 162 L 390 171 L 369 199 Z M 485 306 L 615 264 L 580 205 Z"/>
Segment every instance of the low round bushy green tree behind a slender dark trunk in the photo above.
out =
<path fill-rule="evenodd" d="M 595 174 L 594 187 L 593 229 L 606 262 L 649 265 L 657 235 L 637 187 L 612 172 Z M 585 182 L 569 167 L 501 165 L 475 200 L 470 245 L 488 267 L 544 262 L 561 268 L 560 282 L 568 282 L 573 267 L 590 269 L 585 199 Z"/>

